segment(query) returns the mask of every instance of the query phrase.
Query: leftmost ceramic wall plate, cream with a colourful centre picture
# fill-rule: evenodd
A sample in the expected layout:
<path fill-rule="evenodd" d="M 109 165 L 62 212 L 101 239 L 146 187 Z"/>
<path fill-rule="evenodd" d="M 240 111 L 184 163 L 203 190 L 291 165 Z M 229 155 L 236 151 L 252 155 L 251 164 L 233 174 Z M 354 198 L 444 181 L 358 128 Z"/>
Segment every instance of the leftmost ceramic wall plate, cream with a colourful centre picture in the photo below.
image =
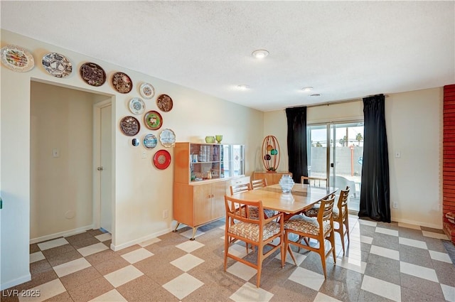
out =
<path fill-rule="evenodd" d="M 6 45 L 4 48 L 1 48 L 0 57 L 3 65 L 18 72 L 31 70 L 35 65 L 33 55 L 25 48 L 21 48 L 21 46 Z"/>

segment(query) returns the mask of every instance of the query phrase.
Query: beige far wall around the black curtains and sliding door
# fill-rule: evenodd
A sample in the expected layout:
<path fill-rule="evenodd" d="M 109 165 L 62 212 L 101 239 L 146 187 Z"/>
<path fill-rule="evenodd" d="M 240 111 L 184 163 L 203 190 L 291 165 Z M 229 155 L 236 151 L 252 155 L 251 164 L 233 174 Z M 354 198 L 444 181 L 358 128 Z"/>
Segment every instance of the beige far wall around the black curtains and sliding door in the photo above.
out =
<path fill-rule="evenodd" d="M 442 227 L 442 88 L 389 95 L 385 123 L 390 168 L 392 220 Z M 363 102 L 309 107 L 309 124 L 363 119 Z M 284 110 L 264 112 L 264 134 L 274 134 L 282 149 L 280 171 L 287 171 L 287 123 Z M 278 125 L 278 126 L 277 126 Z M 401 157 L 395 158 L 395 151 Z M 392 207 L 392 206 L 391 206 Z"/>

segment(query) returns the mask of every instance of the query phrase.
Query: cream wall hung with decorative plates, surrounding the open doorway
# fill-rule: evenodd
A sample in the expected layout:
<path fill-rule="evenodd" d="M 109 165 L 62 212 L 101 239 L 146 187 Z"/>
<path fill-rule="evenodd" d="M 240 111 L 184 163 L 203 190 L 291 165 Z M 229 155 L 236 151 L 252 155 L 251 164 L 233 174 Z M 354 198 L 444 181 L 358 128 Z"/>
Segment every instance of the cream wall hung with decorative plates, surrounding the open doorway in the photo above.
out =
<path fill-rule="evenodd" d="M 125 136 L 119 131 L 119 121 L 122 117 L 131 115 L 128 108 L 129 99 L 139 97 L 138 87 L 142 82 L 154 85 L 156 95 L 166 93 L 172 97 L 171 112 L 161 112 L 164 119 L 162 129 L 172 129 L 176 133 L 177 141 L 196 142 L 202 141 L 207 135 L 223 134 L 223 143 L 245 144 L 246 173 L 250 175 L 255 170 L 257 149 L 262 145 L 263 139 L 262 112 L 2 30 L 1 47 L 7 44 L 20 45 L 31 51 L 35 67 L 29 72 L 14 72 L 1 66 L 0 173 L 1 195 L 4 198 L 4 210 L 0 211 L 1 288 L 8 288 L 30 279 L 28 244 L 31 239 L 32 80 L 104 95 L 113 100 L 113 249 L 127 247 L 170 232 L 176 223 L 172 215 L 166 219 L 162 218 L 163 210 L 172 213 L 173 162 L 166 170 L 158 170 L 151 163 L 154 153 L 164 147 L 159 144 L 156 149 L 146 150 L 146 158 L 142 158 L 144 147 L 133 147 L 132 137 Z M 53 77 L 42 68 L 41 58 L 49 52 L 62 53 L 70 59 L 73 63 L 73 72 L 69 77 L 63 79 Z M 85 62 L 95 62 L 105 69 L 108 78 L 105 85 L 92 87 L 83 82 L 78 70 Z M 126 72 L 132 78 L 134 83 L 132 92 L 124 95 L 114 90 L 109 79 L 117 71 Z M 156 98 L 145 102 L 147 111 L 158 110 Z M 162 129 L 150 131 L 144 126 L 142 117 L 139 119 L 141 130 L 135 137 L 142 139 L 148 133 L 159 136 Z M 173 156 L 173 149 L 167 150 Z"/>

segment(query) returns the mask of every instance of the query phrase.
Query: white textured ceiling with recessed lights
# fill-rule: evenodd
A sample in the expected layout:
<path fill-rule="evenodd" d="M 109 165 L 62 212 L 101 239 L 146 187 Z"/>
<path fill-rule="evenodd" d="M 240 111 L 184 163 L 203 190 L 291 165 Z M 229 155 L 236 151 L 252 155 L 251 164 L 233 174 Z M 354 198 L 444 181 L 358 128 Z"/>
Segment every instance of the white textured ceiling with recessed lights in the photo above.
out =
<path fill-rule="evenodd" d="M 454 1 L 0 5 L 8 31 L 262 111 L 455 83 Z"/>

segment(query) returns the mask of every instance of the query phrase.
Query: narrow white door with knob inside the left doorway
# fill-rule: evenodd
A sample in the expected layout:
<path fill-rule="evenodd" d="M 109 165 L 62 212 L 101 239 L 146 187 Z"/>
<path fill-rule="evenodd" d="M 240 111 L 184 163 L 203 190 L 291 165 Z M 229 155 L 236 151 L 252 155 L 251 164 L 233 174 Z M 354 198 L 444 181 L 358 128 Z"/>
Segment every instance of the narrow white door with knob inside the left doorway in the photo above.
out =
<path fill-rule="evenodd" d="M 101 108 L 100 227 L 112 232 L 112 106 Z"/>

